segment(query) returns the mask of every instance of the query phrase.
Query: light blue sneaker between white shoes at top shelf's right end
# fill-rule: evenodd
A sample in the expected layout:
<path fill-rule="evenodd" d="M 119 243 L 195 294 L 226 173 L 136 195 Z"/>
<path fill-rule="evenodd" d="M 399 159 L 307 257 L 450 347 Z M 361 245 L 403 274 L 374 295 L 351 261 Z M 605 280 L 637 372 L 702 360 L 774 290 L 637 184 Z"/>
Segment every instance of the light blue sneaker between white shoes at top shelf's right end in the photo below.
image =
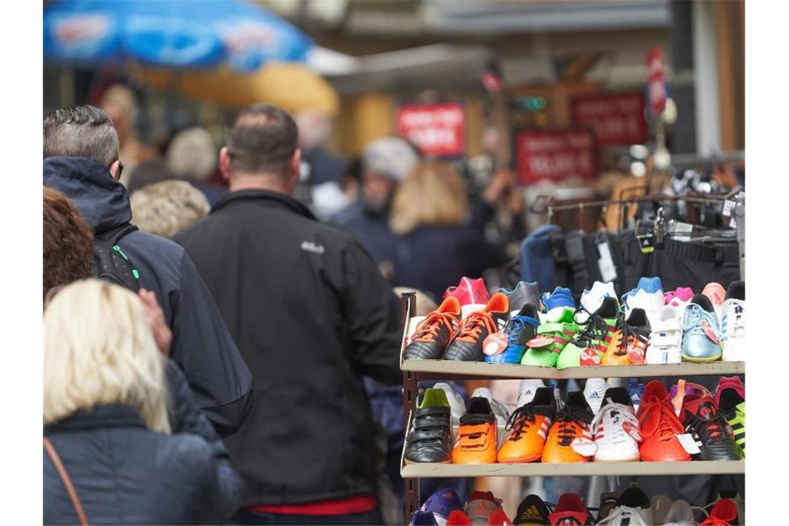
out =
<path fill-rule="evenodd" d="M 682 360 L 714 362 L 720 360 L 720 325 L 712 301 L 696 294 L 685 309 L 682 323 Z"/>

